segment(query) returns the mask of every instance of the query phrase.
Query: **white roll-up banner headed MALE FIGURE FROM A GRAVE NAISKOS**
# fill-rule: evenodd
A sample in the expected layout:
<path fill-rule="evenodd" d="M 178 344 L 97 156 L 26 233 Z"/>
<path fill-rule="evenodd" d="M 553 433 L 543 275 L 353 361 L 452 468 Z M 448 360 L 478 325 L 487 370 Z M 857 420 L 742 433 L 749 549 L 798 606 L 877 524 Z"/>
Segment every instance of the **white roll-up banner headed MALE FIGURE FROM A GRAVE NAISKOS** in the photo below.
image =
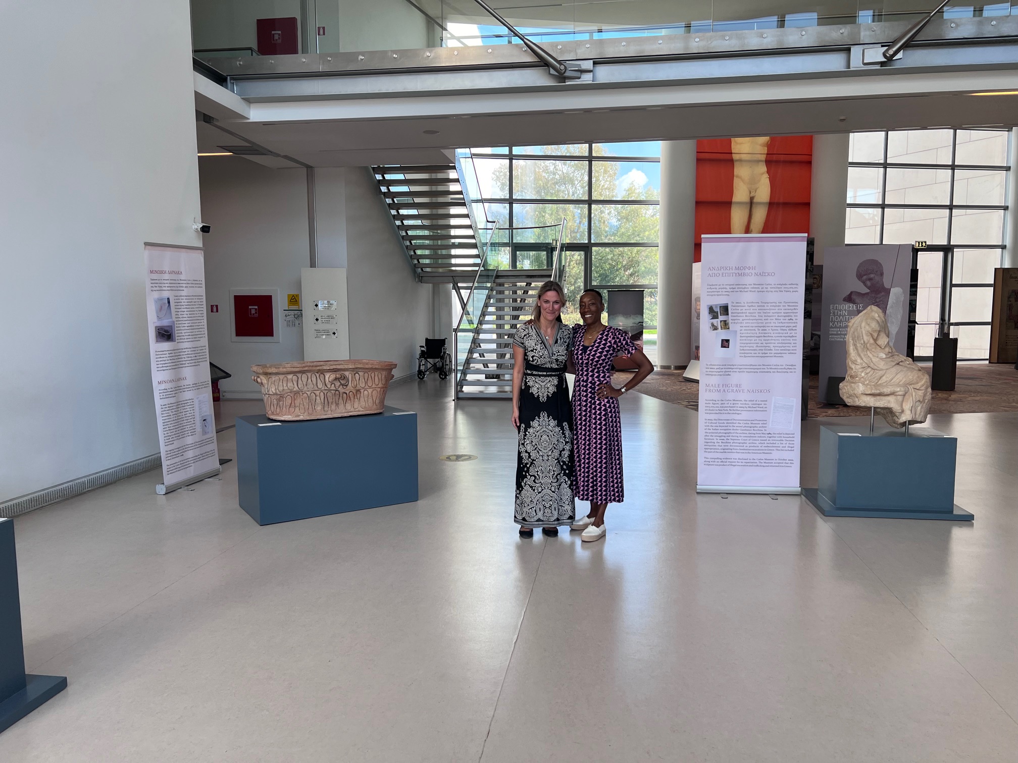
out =
<path fill-rule="evenodd" d="M 805 234 L 703 236 L 698 492 L 797 493 Z"/>

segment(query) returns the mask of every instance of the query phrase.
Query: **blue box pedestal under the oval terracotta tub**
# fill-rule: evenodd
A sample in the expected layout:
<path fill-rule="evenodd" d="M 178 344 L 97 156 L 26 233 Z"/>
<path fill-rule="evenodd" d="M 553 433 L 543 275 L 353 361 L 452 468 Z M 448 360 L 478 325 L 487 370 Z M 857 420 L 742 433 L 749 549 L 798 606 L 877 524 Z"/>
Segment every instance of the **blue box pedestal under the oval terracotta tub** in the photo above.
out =
<path fill-rule="evenodd" d="M 417 500 L 417 414 L 237 418 L 240 508 L 260 525 Z"/>

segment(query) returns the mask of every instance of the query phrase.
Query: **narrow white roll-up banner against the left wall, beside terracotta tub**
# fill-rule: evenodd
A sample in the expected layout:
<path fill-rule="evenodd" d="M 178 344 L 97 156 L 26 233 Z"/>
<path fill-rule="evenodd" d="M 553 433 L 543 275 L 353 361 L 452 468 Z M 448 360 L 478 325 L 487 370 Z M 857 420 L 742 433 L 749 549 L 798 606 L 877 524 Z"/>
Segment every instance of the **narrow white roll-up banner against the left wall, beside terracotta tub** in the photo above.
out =
<path fill-rule="evenodd" d="M 159 493 L 219 473 L 205 319 L 205 255 L 146 244 L 149 355 L 163 483 Z"/>

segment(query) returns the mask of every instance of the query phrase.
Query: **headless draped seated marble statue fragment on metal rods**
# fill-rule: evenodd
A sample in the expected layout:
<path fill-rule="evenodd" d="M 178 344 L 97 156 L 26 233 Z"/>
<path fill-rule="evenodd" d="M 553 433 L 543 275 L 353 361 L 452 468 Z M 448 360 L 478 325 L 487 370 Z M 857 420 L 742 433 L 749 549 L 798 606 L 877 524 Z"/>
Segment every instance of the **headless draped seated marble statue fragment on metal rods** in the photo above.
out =
<path fill-rule="evenodd" d="M 848 322 L 848 367 L 839 390 L 849 405 L 875 408 L 896 428 L 921 424 L 929 413 L 929 374 L 891 345 L 884 311 L 869 305 Z"/>

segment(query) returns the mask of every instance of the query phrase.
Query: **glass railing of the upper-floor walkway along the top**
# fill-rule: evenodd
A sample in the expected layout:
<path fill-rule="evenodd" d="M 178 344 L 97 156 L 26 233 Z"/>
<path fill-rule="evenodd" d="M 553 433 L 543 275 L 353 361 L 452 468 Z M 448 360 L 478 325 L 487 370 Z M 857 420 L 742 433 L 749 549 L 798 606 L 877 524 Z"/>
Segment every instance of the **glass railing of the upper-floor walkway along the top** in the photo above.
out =
<path fill-rule="evenodd" d="M 913 21 L 937 0 L 566 0 L 495 7 L 546 44 L 641 36 Z M 191 0 L 197 58 L 493 46 L 519 39 L 473 0 Z M 272 14 L 270 16 L 270 13 Z M 1018 2 L 949 5 L 937 18 L 1018 15 Z M 552 44 L 549 47 L 547 44 Z M 394 63 L 394 65 L 398 65 Z"/>

